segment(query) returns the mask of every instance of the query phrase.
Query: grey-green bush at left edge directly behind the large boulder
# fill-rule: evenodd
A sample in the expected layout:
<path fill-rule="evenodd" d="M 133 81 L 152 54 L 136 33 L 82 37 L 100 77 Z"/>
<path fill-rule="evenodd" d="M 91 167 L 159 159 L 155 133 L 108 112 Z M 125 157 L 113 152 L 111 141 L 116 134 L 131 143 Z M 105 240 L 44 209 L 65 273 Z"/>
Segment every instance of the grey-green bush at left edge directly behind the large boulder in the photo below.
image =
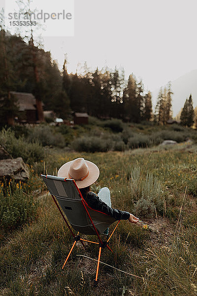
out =
<path fill-rule="evenodd" d="M 27 163 L 32 164 L 44 158 L 44 150 L 38 142 L 28 142 L 23 136 L 18 139 L 11 128 L 3 128 L 0 132 L 0 145 L 7 150 L 13 158 L 22 157 Z"/>

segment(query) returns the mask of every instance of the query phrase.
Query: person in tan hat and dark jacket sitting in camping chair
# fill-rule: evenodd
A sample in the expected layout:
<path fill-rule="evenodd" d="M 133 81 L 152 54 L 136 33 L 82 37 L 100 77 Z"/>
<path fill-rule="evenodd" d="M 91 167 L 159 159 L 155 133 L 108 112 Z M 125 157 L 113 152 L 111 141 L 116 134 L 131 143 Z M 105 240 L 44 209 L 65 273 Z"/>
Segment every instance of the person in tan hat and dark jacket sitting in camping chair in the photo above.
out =
<path fill-rule="evenodd" d="M 94 210 L 107 214 L 116 220 L 128 220 L 131 223 L 137 223 L 138 218 L 126 211 L 113 209 L 111 207 L 109 188 L 103 187 L 96 194 L 90 190 L 90 185 L 99 178 L 99 168 L 91 161 L 84 158 L 76 158 L 66 162 L 58 171 L 58 177 L 74 179 L 83 198 Z M 108 234 L 108 228 L 104 231 Z"/>

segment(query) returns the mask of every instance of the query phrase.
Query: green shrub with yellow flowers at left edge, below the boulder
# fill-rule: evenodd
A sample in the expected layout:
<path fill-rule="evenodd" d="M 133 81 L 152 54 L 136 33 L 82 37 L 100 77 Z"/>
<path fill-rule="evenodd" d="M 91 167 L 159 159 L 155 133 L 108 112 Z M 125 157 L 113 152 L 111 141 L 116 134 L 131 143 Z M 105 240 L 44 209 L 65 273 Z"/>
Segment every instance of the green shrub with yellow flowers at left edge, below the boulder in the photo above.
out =
<path fill-rule="evenodd" d="M 38 202 L 23 192 L 21 183 L 0 183 L 0 226 L 7 230 L 15 228 L 36 216 Z"/>

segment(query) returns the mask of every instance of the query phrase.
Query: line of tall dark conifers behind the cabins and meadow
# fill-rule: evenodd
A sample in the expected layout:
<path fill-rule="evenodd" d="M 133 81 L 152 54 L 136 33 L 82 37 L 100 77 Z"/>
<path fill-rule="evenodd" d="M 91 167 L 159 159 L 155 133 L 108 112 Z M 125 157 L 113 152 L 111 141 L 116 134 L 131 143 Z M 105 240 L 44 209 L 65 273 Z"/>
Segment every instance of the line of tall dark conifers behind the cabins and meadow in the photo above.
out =
<path fill-rule="evenodd" d="M 63 119 L 71 111 L 136 123 L 154 120 L 157 124 L 166 124 L 172 118 L 170 82 L 160 89 L 153 114 L 151 92 L 144 90 L 142 80 L 136 79 L 134 74 L 127 80 L 122 68 L 90 71 L 84 63 L 75 74 L 68 74 L 66 58 L 60 71 L 50 52 L 34 45 L 33 34 L 25 42 L 2 28 L 0 48 L 1 124 L 11 125 L 17 115 L 17 102 L 10 91 L 33 93 L 40 121 L 44 120 L 41 101 L 45 110 L 53 110 Z M 181 113 L 181 124 L 185 126 L 194 123 L 192 104 L 190 96 Z"/>

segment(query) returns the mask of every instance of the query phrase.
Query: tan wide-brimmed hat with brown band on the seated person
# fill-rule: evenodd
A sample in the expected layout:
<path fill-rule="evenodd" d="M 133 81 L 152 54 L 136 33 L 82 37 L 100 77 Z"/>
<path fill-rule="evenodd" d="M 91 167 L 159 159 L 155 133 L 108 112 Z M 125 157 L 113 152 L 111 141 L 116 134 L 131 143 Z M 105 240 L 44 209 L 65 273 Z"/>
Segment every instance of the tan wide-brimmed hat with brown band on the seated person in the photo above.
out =
<path fill-rule="evenodd" d="M 84 158 L 68 161 L 58 171 L 58 177 L 74 179 L 78 188 L 92 185 L 99 178 L 96 164 Z"/>

